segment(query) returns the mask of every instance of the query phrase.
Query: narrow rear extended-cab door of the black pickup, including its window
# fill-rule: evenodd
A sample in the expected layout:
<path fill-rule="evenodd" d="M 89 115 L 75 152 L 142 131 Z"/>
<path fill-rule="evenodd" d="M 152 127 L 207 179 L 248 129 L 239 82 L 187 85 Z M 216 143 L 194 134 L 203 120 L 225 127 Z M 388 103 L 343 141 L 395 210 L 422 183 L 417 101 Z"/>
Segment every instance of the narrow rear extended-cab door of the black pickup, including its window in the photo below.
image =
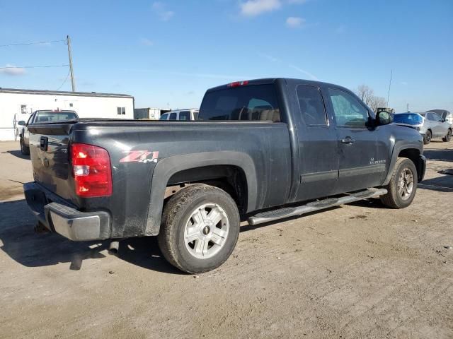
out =
<path fill-rule="evenodd" d="M 326 101 L 316 85 L 289 83 L 289 92 L 297 102 L 292 108 L 299 146 L 296 200 L 329 196 L 338 180 L 338 144 Z"/>

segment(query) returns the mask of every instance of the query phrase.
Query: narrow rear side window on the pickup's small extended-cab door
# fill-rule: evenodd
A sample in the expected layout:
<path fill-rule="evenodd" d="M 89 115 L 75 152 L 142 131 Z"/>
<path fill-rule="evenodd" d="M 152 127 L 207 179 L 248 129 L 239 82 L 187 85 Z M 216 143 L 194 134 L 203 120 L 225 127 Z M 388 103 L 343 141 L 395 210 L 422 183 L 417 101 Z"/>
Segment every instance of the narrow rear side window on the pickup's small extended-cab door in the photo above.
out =
<path fill-rule="evenodd" d="M 300 112 L 307 126 L 327 126 L 326 109 L 319 88 L 297 86 Z"/>

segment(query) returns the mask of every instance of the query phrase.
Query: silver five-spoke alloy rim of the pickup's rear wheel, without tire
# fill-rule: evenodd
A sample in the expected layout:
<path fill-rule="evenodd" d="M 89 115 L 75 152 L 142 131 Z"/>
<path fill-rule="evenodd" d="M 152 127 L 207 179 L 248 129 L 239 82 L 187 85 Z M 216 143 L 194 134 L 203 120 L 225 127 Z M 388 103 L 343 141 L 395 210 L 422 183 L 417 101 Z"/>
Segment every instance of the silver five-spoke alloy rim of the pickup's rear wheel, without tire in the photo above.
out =
<path fill-rule="evenodd" d="M 205 203 L 195 208 L 185 222 L 185 248 L 195 258 L 212 258 L 224 247 L 228 234 L 225 210 L 217 203 Z"/>

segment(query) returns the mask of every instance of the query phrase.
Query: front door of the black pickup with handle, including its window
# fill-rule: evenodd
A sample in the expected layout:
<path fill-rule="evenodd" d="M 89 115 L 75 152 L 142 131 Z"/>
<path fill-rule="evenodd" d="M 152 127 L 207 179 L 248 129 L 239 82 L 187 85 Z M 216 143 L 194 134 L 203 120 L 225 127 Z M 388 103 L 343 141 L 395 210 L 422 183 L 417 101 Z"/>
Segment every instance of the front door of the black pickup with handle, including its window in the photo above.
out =
<path fill-rule="evenodd" d="M 328 97 L 338 141 L 336 193 L 379 186 L 386 174 L 389 152 L 383 153 L 381 143 L 378 145 L 377 136 L 382 137 L 382 133 L 370 126 L 368 108 L 340 88 L 328 88 Z"/>

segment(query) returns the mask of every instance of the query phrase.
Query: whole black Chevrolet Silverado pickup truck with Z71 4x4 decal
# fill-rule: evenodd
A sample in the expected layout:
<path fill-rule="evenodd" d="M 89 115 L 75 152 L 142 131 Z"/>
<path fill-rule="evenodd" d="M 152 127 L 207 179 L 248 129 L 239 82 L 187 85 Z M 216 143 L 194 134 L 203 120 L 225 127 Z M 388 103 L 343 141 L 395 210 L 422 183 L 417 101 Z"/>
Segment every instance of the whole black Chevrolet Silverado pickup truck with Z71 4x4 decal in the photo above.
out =
<path fill-rule="evenodd" d="M 411 204 L 418 131 L 346 88 L 287 78 L 207 90 L 198 121 L 78 119 L 30 129 L 28 206 L 71 240 L 157 236 L 189 273 L 220 266 L 251 225 L 379 197 Z"/>

